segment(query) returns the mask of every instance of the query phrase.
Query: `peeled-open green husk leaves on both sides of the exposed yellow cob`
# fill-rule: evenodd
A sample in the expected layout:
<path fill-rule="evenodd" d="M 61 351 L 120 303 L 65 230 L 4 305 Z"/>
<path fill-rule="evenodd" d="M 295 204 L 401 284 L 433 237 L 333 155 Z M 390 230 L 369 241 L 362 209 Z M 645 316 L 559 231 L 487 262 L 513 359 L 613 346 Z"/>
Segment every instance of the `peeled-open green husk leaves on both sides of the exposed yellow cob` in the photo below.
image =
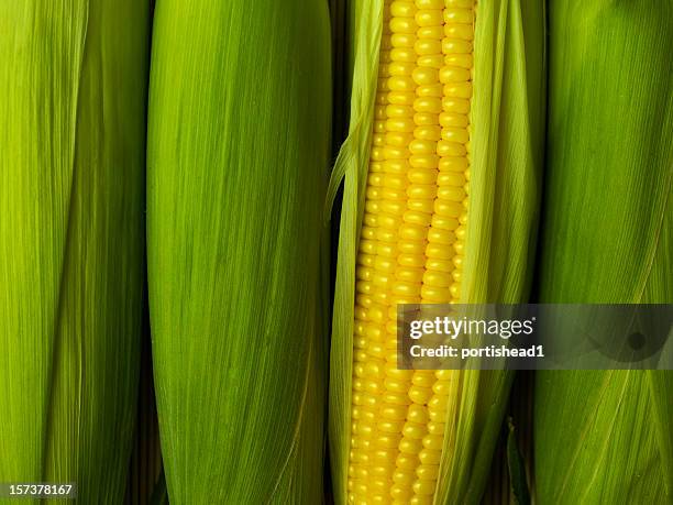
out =
<path fill-rule="evenodd" d="M 479 2 L 476 14 L 471 206 L 462 303 L 516 303 L 530 287 L 544 132 L 544 12 L 538 1 Z M 343 179 L 332 321 L 330 452 L 345 503 L 353 360 L 355 257 L 364 212 L 383 1 L 353 2 L 351 124 L 330 184 Z M 495 48 L 495 51 L 494 51 Z M 330 200 L 331 201 L 331 200 Z M 464 373 L 453 437 L 444 437 L 435 503 L 478 503 L 511 373 Z M 448 447 L 449 439 L 455 444 Z"/>

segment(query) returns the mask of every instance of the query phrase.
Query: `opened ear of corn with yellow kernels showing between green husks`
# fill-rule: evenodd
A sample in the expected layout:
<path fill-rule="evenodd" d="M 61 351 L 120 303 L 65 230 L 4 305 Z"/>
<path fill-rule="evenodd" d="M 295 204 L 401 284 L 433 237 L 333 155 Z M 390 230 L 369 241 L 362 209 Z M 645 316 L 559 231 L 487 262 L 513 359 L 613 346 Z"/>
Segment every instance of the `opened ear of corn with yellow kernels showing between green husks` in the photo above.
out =
<path fill-rule="evenodd" d="M 396 306 L 526 296 L 542 7 L 354 9 L 351 131 L 331 185 L 344 178 L 330 382 L 336 501 L 478 503 L 511 375 L 397 370 Z"/>

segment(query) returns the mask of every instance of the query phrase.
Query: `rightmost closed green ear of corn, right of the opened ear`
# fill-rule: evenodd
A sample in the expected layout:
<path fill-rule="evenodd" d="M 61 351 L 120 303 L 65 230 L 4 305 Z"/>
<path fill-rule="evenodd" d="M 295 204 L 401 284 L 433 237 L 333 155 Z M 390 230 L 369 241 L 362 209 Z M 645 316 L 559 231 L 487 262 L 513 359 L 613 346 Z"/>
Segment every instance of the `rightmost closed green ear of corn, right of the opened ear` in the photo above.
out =
<path fill-rule="evenodd" d="M 551 2 L 550 24 L 541 299 L 670 304 L 673 4 Z M 671 372 L 538 377 L 540 503 L 673 503 Z"/>

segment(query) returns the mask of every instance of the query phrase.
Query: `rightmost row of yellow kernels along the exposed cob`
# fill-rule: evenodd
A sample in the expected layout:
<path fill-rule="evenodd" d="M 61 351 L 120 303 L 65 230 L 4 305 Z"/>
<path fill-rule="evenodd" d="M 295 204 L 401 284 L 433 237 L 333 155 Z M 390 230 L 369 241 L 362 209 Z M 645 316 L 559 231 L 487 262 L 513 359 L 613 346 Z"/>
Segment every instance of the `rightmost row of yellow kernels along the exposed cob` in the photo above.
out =
<path fill-rule="evenodd" d="M 471 70 L 473 67 L 472 39 L 473 3 L 471 0 L 446 0 L 444 9 L 444 39 L 442 40 L 443 66 L 440 81 L 443 85 L 440 113 L 441 140 L 437 153 L 440 156 L 435 215 L 428 233 L 428 263 L 423 276 L 423 300 L 429 303 L 457 303 L 460 300 L 460 273 L 464 244 L 466 216 L 466 185 L 468 175 L 470 99 L 472 97 Z M 422 440 L 419 454 L 419 475 L 428 476 L 428 487 L 433 491 L 439 477 L 439 464 L 444 446 L 444 430 L 451 408 L 456 408 L 460 372 L 438 371 L 429 400 L 428 435 Z M 454 415 L 454 414 L 453 414 Z M 449 449 L 451 450 L 451 449 Z"/>

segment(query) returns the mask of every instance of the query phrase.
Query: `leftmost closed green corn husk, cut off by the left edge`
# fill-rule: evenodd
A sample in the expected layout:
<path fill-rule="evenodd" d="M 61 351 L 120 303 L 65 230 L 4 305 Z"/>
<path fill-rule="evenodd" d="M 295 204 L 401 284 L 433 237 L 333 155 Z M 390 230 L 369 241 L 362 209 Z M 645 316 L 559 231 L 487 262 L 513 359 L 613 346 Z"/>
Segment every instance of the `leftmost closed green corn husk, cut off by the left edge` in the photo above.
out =
<path fill-rule="evenodd" d="M 150 6 L 5 1 L 0 33 L 0 482 L 77 482 L 79 503 L 118 504 L 144 297 Z"/>

